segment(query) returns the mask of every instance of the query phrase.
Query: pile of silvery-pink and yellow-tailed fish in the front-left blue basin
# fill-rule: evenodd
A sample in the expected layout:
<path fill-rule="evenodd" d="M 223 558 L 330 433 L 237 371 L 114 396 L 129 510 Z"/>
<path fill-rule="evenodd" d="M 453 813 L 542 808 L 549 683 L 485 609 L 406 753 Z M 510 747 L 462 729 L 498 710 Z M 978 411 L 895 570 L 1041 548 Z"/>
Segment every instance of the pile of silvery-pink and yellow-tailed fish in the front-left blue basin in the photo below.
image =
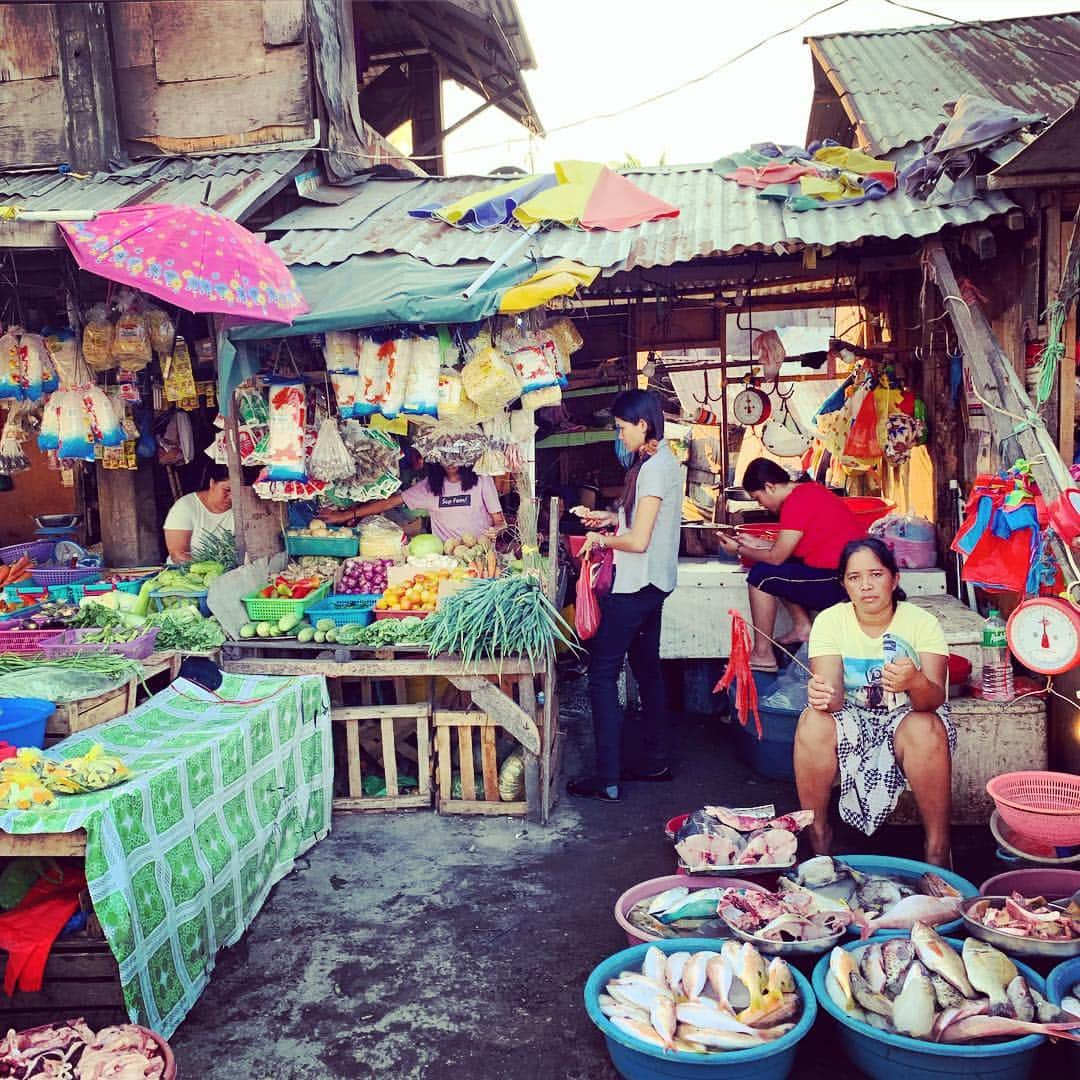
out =
<path fill-rule="evenodd" d="M 802 1013 L 791 969 L 766 963 L 753 945 L 718 953 L 654 946 L 639 971 L 610 980 L 596 1001 L 624 1035 L 649 1047 L 713 1054 L 759 1047 L 786 1035 Z"/>

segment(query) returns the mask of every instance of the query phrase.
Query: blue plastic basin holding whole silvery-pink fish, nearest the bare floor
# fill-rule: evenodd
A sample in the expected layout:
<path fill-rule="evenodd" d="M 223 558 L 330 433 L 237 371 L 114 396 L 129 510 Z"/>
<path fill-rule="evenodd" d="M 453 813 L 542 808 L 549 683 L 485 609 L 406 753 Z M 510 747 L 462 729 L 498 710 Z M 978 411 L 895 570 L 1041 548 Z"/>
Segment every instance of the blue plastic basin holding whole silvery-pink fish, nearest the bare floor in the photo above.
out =
<path fill-rule="evenodd" d="M 718 944 L 715 937 L 683 937 L 652 943 L 664 953 L 705 949 L 715 953 Z M 630 969 L 640 971 L 649 948 L 649 945 L 635 945 L 616 953 L 598 963 L 585 983 L 585 1010 L 589 1018 L 603 1032 L 611 1062 L 620 1076 L 626 1080 L 702 1080 L 703 1077 L 714 1076 L 724 1080 L 783 1080 L 792 1071 L 798 1043 L 809 1032 L 818 1015 L 810 983 L 795 968 L 791 971 L 802 999 L 802 1015 L 787 1035 L 765 1045 L 721 1054 L 688 1054 L 680 1050 L 664 1051 L 659 1047 L 649 1047 L 620 1031 L 600 1012 L 596 999 L 621 972 Z"/>

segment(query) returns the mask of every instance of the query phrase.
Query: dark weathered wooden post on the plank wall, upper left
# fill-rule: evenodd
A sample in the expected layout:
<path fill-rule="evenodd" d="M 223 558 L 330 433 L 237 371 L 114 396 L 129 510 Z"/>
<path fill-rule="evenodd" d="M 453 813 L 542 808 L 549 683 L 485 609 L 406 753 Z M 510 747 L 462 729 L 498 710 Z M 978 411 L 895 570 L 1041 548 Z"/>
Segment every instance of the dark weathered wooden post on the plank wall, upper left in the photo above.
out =
<path fill-rule="evenodd" d="M 120 152 L 117 95 L 106 4 L 57 3 L 60 82 L 69 164 L 77 172 L 107 168 Z"/>

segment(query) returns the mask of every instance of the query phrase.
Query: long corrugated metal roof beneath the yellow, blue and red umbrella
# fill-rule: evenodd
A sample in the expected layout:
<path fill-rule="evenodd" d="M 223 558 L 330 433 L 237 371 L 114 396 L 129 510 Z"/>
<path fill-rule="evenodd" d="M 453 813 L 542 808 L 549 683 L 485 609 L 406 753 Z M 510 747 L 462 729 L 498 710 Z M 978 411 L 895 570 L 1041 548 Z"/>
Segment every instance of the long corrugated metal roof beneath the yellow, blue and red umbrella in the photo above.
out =
<path fill-rule="evenodd" d="M 644 190 L 679 207 L 679 216 L 623 232 L 546 229 L 531 244 L 539 258 L 570 258 L 606 275 L 634 267 L 675 266 L 748 251 L 793 252 L 807 245 L 853 244 L 879 237 L 926 237 L 948 225 L 972 225 L 1013 208 L 999 192 L 966 205 L 932 206 L 896 191 L 861 206 L 794 213 L 751 188 L 725 180 L 708 165 L 626 171 Z M 267 227 L 283 230 L 273 247 L 286 262 L 334 266 L 352 255 L 397 252 L 433 266 L 467 259 L 495 261 L 514 242 L 504 229 L 470 232 L 408 211 L 447 203 L 494 187 L 505 177 L 373 179 L 339 206 L 303 206 Z"/>

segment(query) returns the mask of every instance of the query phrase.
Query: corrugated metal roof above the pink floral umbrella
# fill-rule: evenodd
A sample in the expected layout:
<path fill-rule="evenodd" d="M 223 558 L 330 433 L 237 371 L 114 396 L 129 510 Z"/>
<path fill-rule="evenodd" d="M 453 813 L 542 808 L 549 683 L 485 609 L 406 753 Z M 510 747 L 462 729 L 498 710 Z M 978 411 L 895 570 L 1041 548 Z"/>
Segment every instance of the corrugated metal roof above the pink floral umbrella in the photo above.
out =
<path fill-rule="evenodd" d="M 241 219 L 287 177 L 306 150 L 162 159 L 80 179 L 59 173 L 0 174 L 0 204 L 24 211 L 116 210 L 137 203 L 208 205 Z M 3 222 L 0 222 L 3 228 Z"/>

